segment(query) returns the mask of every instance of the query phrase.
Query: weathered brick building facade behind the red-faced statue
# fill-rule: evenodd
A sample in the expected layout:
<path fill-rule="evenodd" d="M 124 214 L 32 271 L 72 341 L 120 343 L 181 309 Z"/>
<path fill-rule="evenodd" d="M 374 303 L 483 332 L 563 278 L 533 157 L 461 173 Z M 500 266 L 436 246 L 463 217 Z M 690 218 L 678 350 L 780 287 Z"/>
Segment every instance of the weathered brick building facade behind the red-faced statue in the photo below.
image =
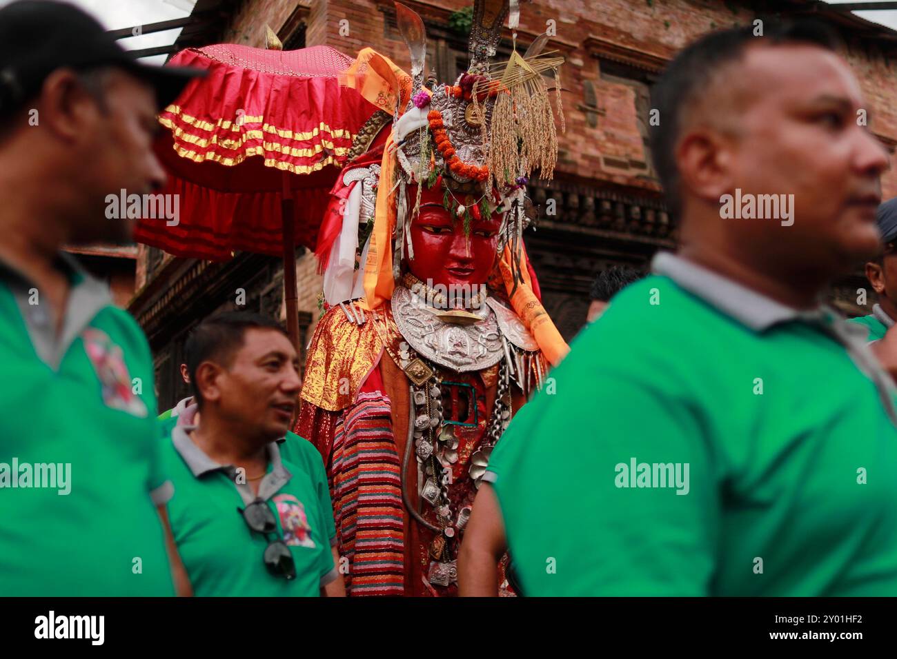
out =
<path fill-rule="evenodd" d="M 457 12 L 472 3 L 406 0 L 405 4 L 427 24 L 428 67 L 454 75 L 466 65 L 466 35 L 450 25 Z M 556 49 L 566 60 L 561 78 L 566 133 L 559 135 L 554 180 L 534 181 L 531 186 L 538 229 L 527 244 L 543 283 L 545 307 L 568 339 L 584 323 L 588 285 L 599 269 L 613 263 L 646 264 L 658 247 L 675 243 L 675 221 L 661 200 L 646 147 L 649 89 L 666 61 L 707 31 L 753 22 L 758 9 L 794 13 L 816 4 L 786 0 L 536 0 L 522 4 L 520 48 L 525 49 L 536 35 L 553 30 L 546 49 Z M 897 59 L 893 47 L 886 56 L 884 41 L 875 38 L 875 31 L 880 36 L 884 28 L 823 16 L 840 25 L 847 43 L 844 56 L 866 93 L 869 115 L 875 117 L 872 128 L 893 152 Z M 282 39 L 290 39 L 301 25 L 306 46 L 325 44 L 349 55 L 371 46 L 409 68 L 391 0 L 247 0 L 233 16 L 224 40 L 264 47 L 266 24 Z M 501 48 L 507 52 L 510 46 L 508 34 Z M 897 195 L 897 169 L 885 175 L 884 195 Z M 143 272 L 138 269 L 138 279 Z M 311 255 L 300 256 L 297 274 L 300 311 L 313 324 L 321 285 Z M 853 295 L 850 290 L 862 283 L 856 277 L 846 280 L 835 297 L 848 300 Z M 310 329 L 306 322 L 306 331 Z"/>

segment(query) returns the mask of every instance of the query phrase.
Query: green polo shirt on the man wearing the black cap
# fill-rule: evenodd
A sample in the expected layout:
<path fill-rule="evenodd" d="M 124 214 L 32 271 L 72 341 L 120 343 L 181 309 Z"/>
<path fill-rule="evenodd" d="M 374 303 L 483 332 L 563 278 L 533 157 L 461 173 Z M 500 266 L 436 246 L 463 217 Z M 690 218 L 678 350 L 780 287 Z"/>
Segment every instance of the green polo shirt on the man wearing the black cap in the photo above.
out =
<path fill-rule="evenodd" d="M 171 595 L 144 334 L 71 257 L 61 334 L 0 265 L 0 595 Z"/>

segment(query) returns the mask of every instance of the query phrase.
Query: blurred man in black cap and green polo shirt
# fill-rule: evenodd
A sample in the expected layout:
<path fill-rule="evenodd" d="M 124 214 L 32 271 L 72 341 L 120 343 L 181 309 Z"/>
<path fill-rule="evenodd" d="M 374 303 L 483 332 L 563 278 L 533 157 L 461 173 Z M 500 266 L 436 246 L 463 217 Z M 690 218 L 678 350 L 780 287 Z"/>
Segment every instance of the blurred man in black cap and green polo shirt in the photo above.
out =
<path fill-rule="evenodd" d="M 130 238 L 106 196 L 161 186 L 155 113 L 190 75 L 138 65 L 72 5 L 0 9 L 4 595 L 166 595 L 170 560 L 182 574 L 149 346 L 60 247 Z"/>

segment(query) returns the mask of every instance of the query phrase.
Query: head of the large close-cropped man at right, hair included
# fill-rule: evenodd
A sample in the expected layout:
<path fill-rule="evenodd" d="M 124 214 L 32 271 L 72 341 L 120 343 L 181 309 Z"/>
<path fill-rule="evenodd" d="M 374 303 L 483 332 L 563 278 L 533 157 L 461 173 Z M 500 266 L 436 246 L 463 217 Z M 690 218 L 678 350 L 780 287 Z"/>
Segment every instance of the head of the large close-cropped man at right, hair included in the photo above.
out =
<path fill-rule="evenodd" d="M 831 34 L 764 29 L 714 33 L 675 58 L 654 90 L 655 161 L 683 246 L 823 282 L 877 251 L 888 156 Z"/>

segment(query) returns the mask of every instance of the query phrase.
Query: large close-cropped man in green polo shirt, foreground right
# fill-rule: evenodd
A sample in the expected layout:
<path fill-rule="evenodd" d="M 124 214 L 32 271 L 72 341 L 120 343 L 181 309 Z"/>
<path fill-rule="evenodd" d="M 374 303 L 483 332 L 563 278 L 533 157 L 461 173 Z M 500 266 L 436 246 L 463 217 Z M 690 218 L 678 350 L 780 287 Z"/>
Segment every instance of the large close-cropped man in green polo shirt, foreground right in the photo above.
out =
<path fill-rule="evenodd" d="M 832 34 L 763 28 L 699 39 L 657 82 L 681 247 L 492 452 L 465 543 L 499 509 L 527 595 L 897 592 L 893 382 L 817 301 L 879 248 L 888 157 Z M 726 212 L 761 195 L 779 217 Z"/>

